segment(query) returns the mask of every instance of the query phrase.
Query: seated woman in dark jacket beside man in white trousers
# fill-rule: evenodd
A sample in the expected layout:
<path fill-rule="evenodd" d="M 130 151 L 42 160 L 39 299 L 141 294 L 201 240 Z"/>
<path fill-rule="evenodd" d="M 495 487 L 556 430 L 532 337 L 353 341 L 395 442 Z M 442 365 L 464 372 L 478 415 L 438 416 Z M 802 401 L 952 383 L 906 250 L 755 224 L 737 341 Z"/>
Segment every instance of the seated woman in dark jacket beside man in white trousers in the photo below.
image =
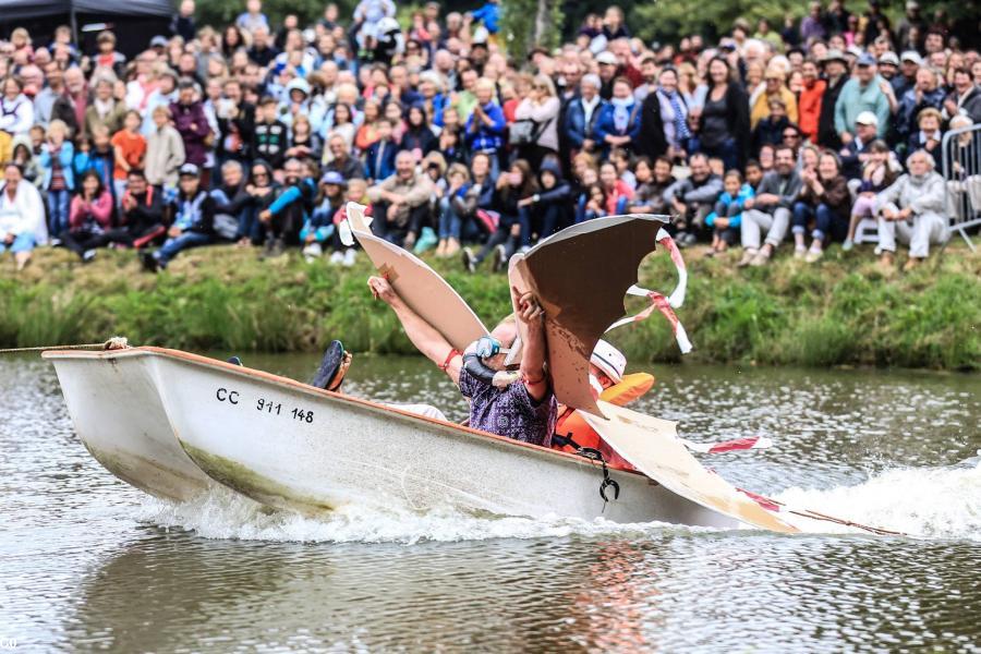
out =
<path fill-rule="evenodd" d="M 794 256 L 813 264 L 824 255 L 824 245 L 832 239 L 844 241 L 848 233 L 851 196 L 841 175 L 838 157 L 825 152 L 818 160 L 818 169 L 800 173 L 801 186 L 794 203 Z M 808 223 L 813 220 L 811 247 L 804 243 Z"/>

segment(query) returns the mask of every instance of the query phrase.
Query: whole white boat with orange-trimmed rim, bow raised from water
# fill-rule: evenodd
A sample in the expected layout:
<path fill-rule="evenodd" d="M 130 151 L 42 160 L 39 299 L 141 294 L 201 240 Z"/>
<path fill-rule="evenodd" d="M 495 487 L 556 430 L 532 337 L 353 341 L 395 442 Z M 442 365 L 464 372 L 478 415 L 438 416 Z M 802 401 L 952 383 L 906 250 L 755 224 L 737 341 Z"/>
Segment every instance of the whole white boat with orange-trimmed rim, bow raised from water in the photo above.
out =
<path fill-rule="evenodd" d="M 110 472 L 185 499 L 214 480 L 304 513 L 349 504 L 732 528 L 643 474 L 262 371 L 158 348 L 49 351 L 78 436 Z M 94 390 L 98 389 L 98 390 Z"/>

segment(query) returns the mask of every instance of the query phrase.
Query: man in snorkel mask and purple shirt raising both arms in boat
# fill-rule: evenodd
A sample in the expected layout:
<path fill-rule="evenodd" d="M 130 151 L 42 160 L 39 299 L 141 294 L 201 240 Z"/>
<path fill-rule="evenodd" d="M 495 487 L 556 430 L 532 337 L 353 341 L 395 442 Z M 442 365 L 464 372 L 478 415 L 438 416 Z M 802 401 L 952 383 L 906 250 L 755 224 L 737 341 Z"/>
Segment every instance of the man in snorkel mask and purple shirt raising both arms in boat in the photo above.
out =
<path fill-rule="evenodd" d="M 455 349 L 439 331 L 426 323 L 382 277 L 368 279 L 372 293 L 395 311 L 412 343 L 439 366 L 470 400 L 470 426 L 514 440 L 549 447 L 555 432 L 558 404 L 545 375 L 544 312 L 532 293 L 512 290 L 514 317 L 528 330 L 521 347 L 520 371 L 505 366 L 506 351 L 513 346 L 518 324 L 506 318 L 489 336 L 471 343 L 463 352 Z"/>

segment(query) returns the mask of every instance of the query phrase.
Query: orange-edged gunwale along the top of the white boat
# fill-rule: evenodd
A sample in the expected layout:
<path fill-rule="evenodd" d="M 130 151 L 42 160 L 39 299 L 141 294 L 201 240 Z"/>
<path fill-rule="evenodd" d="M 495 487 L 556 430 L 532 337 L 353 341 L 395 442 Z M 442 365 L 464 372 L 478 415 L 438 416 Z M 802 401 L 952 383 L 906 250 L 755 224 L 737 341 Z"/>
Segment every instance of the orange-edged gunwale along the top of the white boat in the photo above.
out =
<path fill-rule="evenodd" d="M 397 407 L 389 407 L 386 404 L 382 404 L 379 402 L 375 402 L 372 400 L 367 400 L 364 398 L 354 397 L 347 393 L 336 392 L 331 390 L 325 390 L 323 388 L 317 388 L 316 386 L 311 386 L 310 384 L 303 384 L 302 382 L 298 382 L 295 379 L 291 379 L 289 377 L 283 377 L 281 375 L 275 375 L 272 373 L 261 371 L 257 368 L 251 368 L 244 365 L 237 365 L 233 363 L 228 363 L 225 361 L 220 361 L 218 359 L 211 359 L 209 356 L 204 356 L 202 354 L 194 354 L 192 352 L 184 352 L 183 350 L 172 350 L 170 348 L 158 348 L 156 346 L 140 346 L 140 347 L 131 347 L 124 350 L 98 350 L 98 351 L 86 351 L 86 350 L 46 350 L 41 352 L 43 359 L 118 359 L 121 356 L 162 356 L 165 359 L 175 359 L 179 361 L 190 362 L 195 365 L 201 365 L 203 367 L 211 367 L 217 368 L 222 372 L 233 373 L 238 376 L 242 377 L 254 377 L 263 382 L 268 382 L 277 386 L 286 386 L 289 388 L 293 388 L 295 390 L 300 390 L 306 393 L 322 396 L 329 399 L 338 400 L 341 402 L 349 402 L 352 404 L 361 405 L 362 408 L 372 409 L 374 411 L 380 411 L 384 413 L 395 413 L 402 417 L 409 417 L 415 421 L 422 421 L 432 423 L 434 425 L 439 425 L 441 427 L 449 427 L 457 432 L 461 432 L 463 434 L 470 436 L 479 436 L 482 438 L 491 439 L 500 445 L 506 445 L 510 447 L 519 447 L 519 448 L 528 448 L 531 451 L 535 451 L 540 455 L 547 453 L 560 457 L 567 461 L 572 461 L 576 463 L 586 463 L 593 468 L 600 468 L 603 465 L 600 461 L 595 461 L 593 459 L 588 459 L 580 455 L 574 455 L 571 452 L 565 452 L 561 450 L 556 450 L 549 447 L 543 447 L 541 445 L 534 445 L 531 443 L 523 443 L 521 440 L 514 440 L 513 438 L 508 438 L 506 436 L 498 436 L 497 434 L 492 434 L 491 432 L 484 432 L 483 429 L 475 429 L 470 426 L 461 425 L 459 423 L 444 421 L 435 417 L 429 417 L 427 415 L 422 415 L 419 413 L 412 413 L 411 411 L 407 411 L 404 409 L 399 409 Z M 626 474 L 633 474 L 641 477 L 645 477 L 646 475 L 632 469 L 622 468 L 620 465 L 616 465 L 614 463 L 606 463 L 606 467 L 610 470 L 616 470 Z"/>

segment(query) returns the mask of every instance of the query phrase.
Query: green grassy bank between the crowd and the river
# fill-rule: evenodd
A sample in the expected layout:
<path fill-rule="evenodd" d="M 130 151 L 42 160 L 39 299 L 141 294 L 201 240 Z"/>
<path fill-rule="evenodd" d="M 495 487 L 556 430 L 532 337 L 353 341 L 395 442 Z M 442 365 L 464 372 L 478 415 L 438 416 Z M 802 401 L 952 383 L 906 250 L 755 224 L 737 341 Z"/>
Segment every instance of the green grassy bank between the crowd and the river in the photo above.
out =
<path fill-rule="evenodd" d="M 782 256 L 750 270 L 736 270 L 732 257 L 689 263 L 688 301 L 678 313 L 695 346 L 692 359 L 981 370 L 981 254 L 960 244 L 891 278 L 868 250 L 835 247 L 814 266 Z M 508 311 L 502 276 L 464 275 L 456 261 L 434 265 L 486 323 Z M 295 255 L 261 263 L 254 251 L 233 247 L 186 253 L 159 276 L 142 272 L 128 252 L 100 252 L 82 266 L 63 250 L 45 250 L 20 275 L 5 257 L 0 348 L 118 334 L 194 350 L 316 351 L 340 338 L 354 351 L 414 352 L 391 312 L 367 292 L 370 272 L 363 258 L 352 269 Z M 667 257 L 650 257 L 641 282 L 674 288 Z M 657 316 L 611 340 L 635 363 L 679 359 Z"/>

